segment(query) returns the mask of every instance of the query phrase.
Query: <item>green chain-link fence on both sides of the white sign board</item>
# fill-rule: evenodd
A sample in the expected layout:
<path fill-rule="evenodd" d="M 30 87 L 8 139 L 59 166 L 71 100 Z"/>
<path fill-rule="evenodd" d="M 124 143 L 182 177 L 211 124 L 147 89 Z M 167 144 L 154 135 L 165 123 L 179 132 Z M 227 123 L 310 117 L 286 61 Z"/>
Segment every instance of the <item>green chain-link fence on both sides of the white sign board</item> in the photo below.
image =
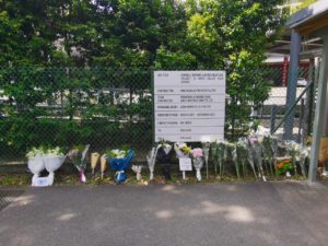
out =
<path fill-rule="evenodd" d="M 91 144 L 91 151 L 98 152 L 127 144 L 136 150 L 136 161 L 144 161 L 153 144 L 152 72 L 0 68 L 0 162 L 24 163 L 32 147 L 75 144 Z M 250 122 L 274 128 L 286 112 L 282 68 L 226 74 L 225 137 L 234 140 L 246 134 L 254 126 Z M 296 89 L 300 94 L 308 82 L 308 69 L 297 71 L 297 77 L 305 81 L 298 79 L 303 81 Z M 305 109 L 308 95 L 295 107 L 296 136 L 311 117 L 313 104 Z"/>

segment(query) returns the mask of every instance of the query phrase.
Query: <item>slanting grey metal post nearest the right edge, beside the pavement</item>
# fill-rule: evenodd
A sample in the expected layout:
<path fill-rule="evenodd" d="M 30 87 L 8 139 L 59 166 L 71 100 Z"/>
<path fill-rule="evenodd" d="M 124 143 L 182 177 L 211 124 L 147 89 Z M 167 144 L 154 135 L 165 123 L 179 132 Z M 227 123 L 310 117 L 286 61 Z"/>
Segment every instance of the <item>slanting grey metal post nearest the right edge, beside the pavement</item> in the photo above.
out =
<path fill-rule="evenodd" d="M 325 109 L 327 96 L 327 79 L 328 79 L 328 36 L 324 39 L 324 57 L 320 66 L 319 81 L 318 81 L 318 95 L 315 110 L 315 121 L 313 128 L 313 143 L 311 148 L 311 159 L 308 168 L 308 181 L 313 183 L 317 177 L 318 154 L 320 148 L 320 139 L 324 130 L 324 118 L 326 117 Z"/>

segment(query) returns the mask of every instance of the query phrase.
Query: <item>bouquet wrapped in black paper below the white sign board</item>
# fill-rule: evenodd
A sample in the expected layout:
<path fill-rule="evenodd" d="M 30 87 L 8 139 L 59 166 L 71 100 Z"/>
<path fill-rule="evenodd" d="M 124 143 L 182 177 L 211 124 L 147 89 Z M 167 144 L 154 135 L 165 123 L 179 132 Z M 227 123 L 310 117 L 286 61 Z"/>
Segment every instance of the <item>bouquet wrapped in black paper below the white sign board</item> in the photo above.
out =
<path fill-rule="evenodd" d="M 171 179 L 171 159 L 173 155 L 172 144 L 161 141 L 157 145 L 156 161 L 162 165 L 162 174 L 166 180 Z"/>

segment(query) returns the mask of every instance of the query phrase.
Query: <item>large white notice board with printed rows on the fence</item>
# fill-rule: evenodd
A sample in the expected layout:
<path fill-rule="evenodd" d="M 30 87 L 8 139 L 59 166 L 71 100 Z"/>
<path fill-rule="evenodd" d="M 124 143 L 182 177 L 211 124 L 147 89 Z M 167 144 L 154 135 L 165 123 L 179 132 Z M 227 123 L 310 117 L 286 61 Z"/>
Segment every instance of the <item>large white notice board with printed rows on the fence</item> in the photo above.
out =
<path fill-rule="evenodd" d="M 225 71 L 154 72 L 155 141 L 224 138 Z"/>

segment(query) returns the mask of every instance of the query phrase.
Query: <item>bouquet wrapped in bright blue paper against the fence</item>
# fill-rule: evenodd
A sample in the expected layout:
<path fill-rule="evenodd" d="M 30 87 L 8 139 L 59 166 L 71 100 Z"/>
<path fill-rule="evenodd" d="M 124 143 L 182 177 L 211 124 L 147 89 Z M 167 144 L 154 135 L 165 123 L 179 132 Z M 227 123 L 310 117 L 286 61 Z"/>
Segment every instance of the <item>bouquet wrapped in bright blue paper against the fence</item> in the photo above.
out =
<path fill-rule="evenodd" d="M 128 148 L 116 149 L 106 152 L 105 156 L 110 168 L 116 171 L 115 181 L 117 184 L 124 183 L 127 179 L 126 169 L 131 164 L 134 151 Z"/>

